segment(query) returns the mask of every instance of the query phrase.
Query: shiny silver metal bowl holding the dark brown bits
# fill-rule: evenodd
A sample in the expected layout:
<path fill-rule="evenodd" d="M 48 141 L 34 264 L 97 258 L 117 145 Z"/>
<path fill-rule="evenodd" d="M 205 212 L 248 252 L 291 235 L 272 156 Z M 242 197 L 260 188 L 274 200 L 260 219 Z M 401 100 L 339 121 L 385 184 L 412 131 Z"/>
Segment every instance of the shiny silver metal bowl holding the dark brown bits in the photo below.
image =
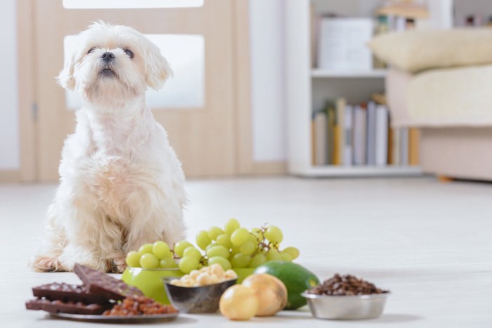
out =
<path fill-rule="evenodd" d="M 301 295 L 306 298 L 311 313 L 318 319 L 360 320 L 379 317 L 389 294 L 330 296 L 304 291 Z"/>

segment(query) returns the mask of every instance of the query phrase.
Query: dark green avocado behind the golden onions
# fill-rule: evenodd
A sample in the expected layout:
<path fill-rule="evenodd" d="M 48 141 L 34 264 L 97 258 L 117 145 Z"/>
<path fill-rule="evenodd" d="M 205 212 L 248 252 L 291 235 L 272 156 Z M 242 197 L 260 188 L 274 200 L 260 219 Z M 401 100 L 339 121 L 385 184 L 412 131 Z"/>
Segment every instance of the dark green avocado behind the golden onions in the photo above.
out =
<path fill-rule="evenodd" d="M 268 273 L 278 277 L 287 287 L 287 306 L 284 310 L 295 310 L 306 305 L 301 293 L 320 284 L 314 273 L 297 263 L 287 261 L 268 261 L 259 265 L 254 273 Z"/>

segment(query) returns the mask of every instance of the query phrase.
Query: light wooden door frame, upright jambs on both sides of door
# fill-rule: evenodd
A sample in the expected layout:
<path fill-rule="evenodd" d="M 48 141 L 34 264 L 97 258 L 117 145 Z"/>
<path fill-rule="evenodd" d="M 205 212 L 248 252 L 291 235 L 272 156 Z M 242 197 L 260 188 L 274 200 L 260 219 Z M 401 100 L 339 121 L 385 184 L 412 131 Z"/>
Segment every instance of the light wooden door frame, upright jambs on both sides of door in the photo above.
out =
<path fill-rule="evenodd" d="M 37 94 L 35 76 L 34 1 L 17 2 L 18 113 L 20 174 L 22 182 L 38 181 Z M 254 171 L 251 129 L 251 70 L 249 0 L 232 0 L 233 10 L 233 104 L 235 110 L 235 171 L 238 175 Z M 60 63 L 60 69 L 62 64 Z M 54 79 L 54 77 L 53 77 Z M 61 150 L 60 150 L 61 151 Z"/>

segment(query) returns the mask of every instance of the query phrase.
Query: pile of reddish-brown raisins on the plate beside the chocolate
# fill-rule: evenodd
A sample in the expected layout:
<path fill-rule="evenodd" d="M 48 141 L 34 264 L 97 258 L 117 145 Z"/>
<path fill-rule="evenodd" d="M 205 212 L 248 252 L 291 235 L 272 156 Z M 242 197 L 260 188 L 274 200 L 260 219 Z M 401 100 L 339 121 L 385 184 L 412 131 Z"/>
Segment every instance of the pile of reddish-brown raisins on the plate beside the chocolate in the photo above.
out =
<path fill-rule="evenodd" d="M 177 313 L 172 306 L 161 304 L 145 296 L 129 296 L 121 303 L 117 303 L 103 315 L 164 315 Z"/>

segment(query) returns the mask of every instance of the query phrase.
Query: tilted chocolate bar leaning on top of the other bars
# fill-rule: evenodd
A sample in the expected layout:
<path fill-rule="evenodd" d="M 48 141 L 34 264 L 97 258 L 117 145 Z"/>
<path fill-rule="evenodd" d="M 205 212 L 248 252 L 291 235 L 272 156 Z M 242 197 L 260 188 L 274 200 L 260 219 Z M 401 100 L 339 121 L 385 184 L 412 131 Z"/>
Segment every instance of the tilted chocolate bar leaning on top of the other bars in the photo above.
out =
<path fill-rule="evenodd" d="M 74 272 L 84 282 L 91 294 L 98 294 L 106 299 L 115 301 L 122 300 L 127 296 L 143 296 L 140 289 L 131 287 L 122 280 L 115 279 L 110 275 L 93 270 L 85 265 L 76 263 Z"/>

